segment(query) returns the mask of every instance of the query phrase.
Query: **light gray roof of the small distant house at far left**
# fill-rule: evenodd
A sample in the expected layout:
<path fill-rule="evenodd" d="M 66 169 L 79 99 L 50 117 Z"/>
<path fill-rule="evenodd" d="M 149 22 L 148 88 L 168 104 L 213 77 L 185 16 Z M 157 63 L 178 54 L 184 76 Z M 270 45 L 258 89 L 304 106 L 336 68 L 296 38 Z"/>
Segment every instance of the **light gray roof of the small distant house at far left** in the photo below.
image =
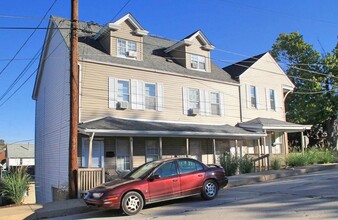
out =
<path fill-rule="evenodd" d="M 7 145 L 9 158 L 34 158 L 34 144 L 9 144 Z"/>

